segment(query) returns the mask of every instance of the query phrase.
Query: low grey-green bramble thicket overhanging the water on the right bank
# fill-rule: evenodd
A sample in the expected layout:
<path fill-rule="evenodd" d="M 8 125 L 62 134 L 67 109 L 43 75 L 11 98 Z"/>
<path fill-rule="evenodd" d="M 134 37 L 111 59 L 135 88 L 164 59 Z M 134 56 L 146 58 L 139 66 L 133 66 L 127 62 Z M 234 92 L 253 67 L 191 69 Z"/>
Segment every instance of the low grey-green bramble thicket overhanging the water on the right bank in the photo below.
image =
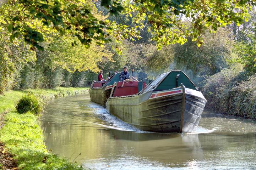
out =
<path fill-rule="evenodd" d="M 248 75 L 240 66 L 223 69 L 208 77 L 202 92 L 207 99 L 208 109 L 256 118 L 256 75 Z"/>

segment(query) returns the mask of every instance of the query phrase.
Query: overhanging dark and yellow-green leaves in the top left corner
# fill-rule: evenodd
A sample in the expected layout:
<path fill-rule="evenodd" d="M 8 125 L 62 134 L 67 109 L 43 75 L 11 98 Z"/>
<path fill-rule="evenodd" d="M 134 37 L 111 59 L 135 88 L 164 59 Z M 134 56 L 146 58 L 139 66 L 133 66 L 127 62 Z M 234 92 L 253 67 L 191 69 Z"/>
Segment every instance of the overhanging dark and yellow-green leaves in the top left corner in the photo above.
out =
<path fill-rule="evenodd" d="M 42 33 L 48 29 L 48 33 L 61 36 L 72 34 L 88 48 L 92 41 L 99 45 L 109 41 L 108 27 L 98 20 L 97 12 L 94 16 L 91 4 L 90 0 L 9 0 L 1 6 L 0 13 L 9 13 L 2 24 L 8 24 L 11 41 L 22 35 L 32 49 L 42 50 L 39 42 L 45 40 Z"/>

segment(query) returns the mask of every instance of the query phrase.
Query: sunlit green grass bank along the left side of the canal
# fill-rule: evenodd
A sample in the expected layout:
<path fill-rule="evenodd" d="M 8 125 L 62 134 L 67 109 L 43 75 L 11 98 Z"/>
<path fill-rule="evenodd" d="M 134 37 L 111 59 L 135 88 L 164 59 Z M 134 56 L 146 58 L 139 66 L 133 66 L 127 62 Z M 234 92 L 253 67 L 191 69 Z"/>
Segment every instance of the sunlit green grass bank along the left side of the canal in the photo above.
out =
<path fill-rule="evenodd" d="M 19 169 L 82 170 L 81 166 L 47 151 L 42 130 L 37 123 L 38 116 L 29 112 L 19 114 L 15 111 L 15 104 L 26 92 L 37 94 L 47 101 L 52 98 L 87 93 L 88 88 L 29 89 L 8 91 L 4 96 L 0 96 L 1 118 L 4 116 L 4 126 L 0 129 L 0 141 L 5 144 L 11 154 L 15 155 Z"/>

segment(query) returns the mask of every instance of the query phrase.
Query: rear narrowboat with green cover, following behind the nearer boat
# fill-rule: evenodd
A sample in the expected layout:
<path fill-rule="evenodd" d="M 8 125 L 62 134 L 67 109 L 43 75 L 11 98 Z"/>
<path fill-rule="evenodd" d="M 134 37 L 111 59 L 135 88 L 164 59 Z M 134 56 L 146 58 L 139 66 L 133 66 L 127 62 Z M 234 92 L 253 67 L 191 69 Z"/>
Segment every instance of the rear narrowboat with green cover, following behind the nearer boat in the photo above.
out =
<path fill-rule="evenodd" d="M 116 81 L 119 81 L 118 72 L 112 74 L 108 81 L 94 81 L 89 89 L 91 101 L 105 106 Z"/>

